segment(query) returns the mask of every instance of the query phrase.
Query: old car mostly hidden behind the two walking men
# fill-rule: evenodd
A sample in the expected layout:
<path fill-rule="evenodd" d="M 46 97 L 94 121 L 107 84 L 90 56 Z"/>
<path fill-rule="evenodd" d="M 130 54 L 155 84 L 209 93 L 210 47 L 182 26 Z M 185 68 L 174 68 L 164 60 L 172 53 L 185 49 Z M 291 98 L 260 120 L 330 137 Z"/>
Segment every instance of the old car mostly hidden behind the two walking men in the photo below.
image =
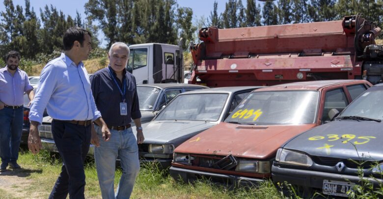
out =
<path fill-rule="evenodd" d="M 146 84 L 137 85 L 137 94 L 139 100 L 139 109 L 141 111 L 141 123 L 149 122 L 158 113 L 164 105 L 180 93 L 208 88 L 203 85 L 187 84 Z M 39 126 L 39 135 L 43 148 L 49 151 L 57 151 L 51 129 L 52 118 L 46 116 L 43 118 L 42 125 Z M 132 122 L 134 126 L 134 122 Z M 133 128 L 135 129 L 135 128 Z M 94 146 L 91 144 L 88 151 L 89 156 L 94 155 Z"/>

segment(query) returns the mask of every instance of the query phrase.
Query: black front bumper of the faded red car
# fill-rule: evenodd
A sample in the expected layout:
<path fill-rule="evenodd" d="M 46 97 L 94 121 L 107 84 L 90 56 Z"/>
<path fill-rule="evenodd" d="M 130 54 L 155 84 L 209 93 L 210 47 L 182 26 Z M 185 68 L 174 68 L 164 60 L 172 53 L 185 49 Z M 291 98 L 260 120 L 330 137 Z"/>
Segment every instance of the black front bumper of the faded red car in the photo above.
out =
<path fill-rule="evenodd" d="M 253 186 L 258 184 L 259 182 L 265 181 L 264 179 L 260 178 L 251 178 L 223 173 L 213 173 L 207 171 L 195 171 L 178 167 L 170 167 L 169 173 L 174 179 L 182 180 L 186 183 L 202 177 L 210 178 L 210 180 L 212 180 L 213 182 L 218 182 L 220 184 L 228 184 L 232 186 Z"/>

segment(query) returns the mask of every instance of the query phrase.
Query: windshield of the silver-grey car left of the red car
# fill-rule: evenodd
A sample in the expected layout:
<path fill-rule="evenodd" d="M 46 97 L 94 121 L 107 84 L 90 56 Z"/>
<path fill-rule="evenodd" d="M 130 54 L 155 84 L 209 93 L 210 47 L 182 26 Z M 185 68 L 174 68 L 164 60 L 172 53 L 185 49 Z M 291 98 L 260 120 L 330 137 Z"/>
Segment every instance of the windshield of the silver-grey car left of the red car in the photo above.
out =
<path fill-rule="evenodd" d="M 178 95 L 156 120 L 218 121 L 228 94 Z"/>

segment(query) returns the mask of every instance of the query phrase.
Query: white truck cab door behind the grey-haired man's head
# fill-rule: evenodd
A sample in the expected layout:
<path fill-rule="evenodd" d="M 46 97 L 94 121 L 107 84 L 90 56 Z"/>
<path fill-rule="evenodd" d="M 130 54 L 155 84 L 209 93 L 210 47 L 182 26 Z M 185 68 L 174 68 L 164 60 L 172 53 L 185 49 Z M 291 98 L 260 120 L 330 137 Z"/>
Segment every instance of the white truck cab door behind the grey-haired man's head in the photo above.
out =
<path fill-rule="evenodd" d="M 131 49 L 127 71 L 136 78 L 138 85 L 149 83 L 149 47 Z"/>

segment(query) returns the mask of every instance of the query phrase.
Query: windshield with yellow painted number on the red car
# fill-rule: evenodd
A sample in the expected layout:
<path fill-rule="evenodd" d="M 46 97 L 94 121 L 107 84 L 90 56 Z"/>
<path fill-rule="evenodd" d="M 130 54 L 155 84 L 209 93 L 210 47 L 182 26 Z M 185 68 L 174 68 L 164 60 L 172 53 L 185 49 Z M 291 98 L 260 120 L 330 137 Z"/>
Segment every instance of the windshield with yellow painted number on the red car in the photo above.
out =
<path fill-rule="evenodd" d="M 253 92 L 225 122 L 260 125 L 314 123 L 318 98 L 317 91 Z"/>

